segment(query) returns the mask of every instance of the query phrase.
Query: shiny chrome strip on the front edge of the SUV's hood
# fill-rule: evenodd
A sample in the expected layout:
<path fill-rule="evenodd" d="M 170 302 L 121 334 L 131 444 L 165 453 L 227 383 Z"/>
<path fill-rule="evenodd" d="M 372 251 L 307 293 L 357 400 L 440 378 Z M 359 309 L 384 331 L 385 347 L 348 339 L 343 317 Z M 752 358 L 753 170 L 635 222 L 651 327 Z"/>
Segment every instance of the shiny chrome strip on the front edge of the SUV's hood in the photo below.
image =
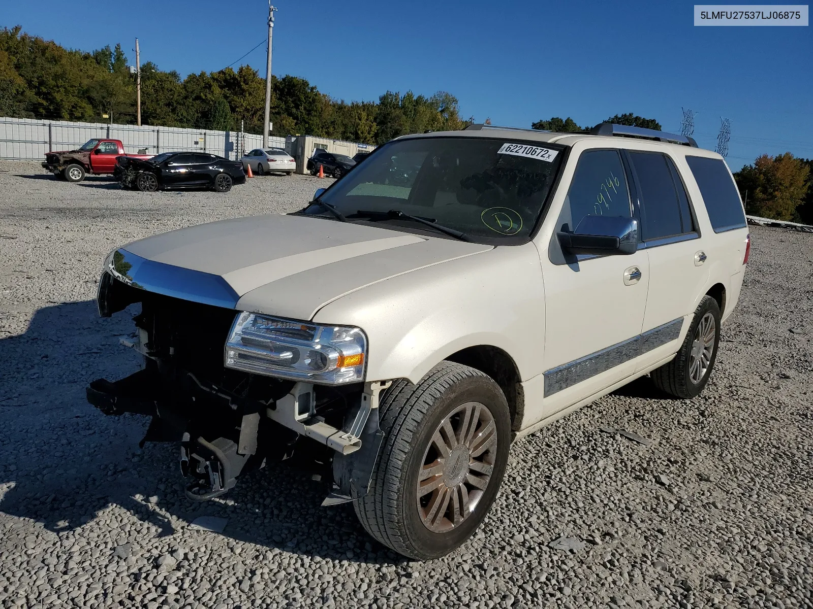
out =
<path fill-rule="evenodd" d="M 126 249 L 116 250 L 105 270 L 130 286 L 181 300 L 224 309 L 234 309 L 240 300 L 237 292 L 220 275 L 147 260 Z"/>

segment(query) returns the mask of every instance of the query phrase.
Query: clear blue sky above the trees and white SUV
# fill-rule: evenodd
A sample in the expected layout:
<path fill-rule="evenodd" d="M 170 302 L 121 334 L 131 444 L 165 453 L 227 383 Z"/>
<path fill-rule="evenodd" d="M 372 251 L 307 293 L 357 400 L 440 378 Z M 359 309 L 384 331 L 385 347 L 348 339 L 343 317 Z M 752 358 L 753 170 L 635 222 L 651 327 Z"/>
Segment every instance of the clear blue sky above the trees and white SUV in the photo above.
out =
<path fill-rule="evenodd" d="M 267 4 L 233 2 L 12 2 L 0 26 L 67 47 L 121 42 L 134 63 L 215 71 L 265 37 Z M 761 154 L 813 158 L 813 32 L 808 27 L 699 28 L 689 2 L 293 2 L 276 0 L 273 72 L 302 76 L 336 98 L 387 89 L 459 98 L 463 117 L 529 127 L 571 116 L 594 124 L 634 112 L 713 149 L 731 119 L 728 162 Z M 236 65 L 265 71 L 265 45 Z"/>

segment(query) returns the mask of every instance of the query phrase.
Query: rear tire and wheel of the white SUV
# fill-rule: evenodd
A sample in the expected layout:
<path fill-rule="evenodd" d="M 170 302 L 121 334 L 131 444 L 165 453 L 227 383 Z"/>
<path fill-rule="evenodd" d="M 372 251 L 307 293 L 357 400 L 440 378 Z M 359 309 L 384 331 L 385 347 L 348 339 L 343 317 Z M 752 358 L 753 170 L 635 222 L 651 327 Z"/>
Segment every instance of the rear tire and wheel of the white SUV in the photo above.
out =
<path fill-rule="evenodd" d="M 650 373 L 654 386 L 684 400 L 696 397 L 711 376 L 719 344 L 720 306 L 703 296 L 675 359 Z"/>

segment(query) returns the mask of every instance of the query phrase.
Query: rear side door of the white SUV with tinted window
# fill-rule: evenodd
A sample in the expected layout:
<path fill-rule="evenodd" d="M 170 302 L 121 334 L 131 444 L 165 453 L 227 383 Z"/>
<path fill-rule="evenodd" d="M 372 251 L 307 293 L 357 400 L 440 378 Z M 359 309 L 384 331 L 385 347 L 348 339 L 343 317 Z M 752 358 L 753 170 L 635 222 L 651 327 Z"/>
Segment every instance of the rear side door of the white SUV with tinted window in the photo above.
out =
<path fill-rule="evenodd" d="M 643 331 L 659 335 L 638 368 L 677 349 L 684 318 L 693 313 L 709 276 L 707 254 L 675 163 L 663 153 L 629 150 L 641 209 L 641 239 L 650 259 Z"/>

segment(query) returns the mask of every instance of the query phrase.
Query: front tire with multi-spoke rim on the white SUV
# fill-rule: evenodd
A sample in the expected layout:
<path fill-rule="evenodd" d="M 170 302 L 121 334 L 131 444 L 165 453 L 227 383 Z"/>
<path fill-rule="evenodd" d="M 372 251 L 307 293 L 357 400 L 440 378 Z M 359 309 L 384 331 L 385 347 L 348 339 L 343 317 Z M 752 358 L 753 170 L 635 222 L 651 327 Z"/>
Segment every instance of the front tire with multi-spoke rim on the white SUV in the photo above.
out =
<path fill-rule="evenodd" d="M 466 412 L 469 421 L 476 412 L 478 421 L 469 434 L 463 433 Z M 451 425 L 453 441 L 441 432 L 444 423 Z M 380 405 L 380 427 L 385 443 L 368 495 L 354 502 L 356 516 L 367 533 L 402 555 L 425 560 L 448 554 L 471 537 L 497 497 L 511 443 L 505 395 L 479 370 L 443 361 L 417 385 L 400 380 L 390 387 Z M 446 451 L 451 448 L 446 458 L 436 437 Z M 474 454 L 484 443 L 485 452 Z M 476 469 L 470 469 L 480 459 Z M 431 464 L 435 465 L 430 468 Z M 421 470 L 424 480 L 419 482 Z M 434 474 L 427 475 L 430 471 Z M 470 479 L 477 481 L 476 486 Z M 419 496 L 419 484 L 433 490 Z M 457 520 L 452 508 L 463 504 L 461 499 L 476 509 L 459 513 Z M 441 506 L 437 512 L 432 509 L 435 504 Z"/>

